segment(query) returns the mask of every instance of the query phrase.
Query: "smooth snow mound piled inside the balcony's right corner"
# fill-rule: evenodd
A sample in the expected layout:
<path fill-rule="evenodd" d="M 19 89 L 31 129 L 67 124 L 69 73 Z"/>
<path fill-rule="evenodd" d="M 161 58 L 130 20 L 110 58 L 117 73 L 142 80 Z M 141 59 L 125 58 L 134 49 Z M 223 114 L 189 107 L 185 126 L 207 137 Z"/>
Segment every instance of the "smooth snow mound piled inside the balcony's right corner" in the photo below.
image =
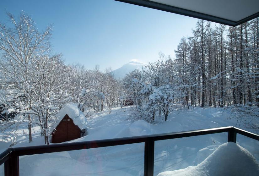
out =
<path fill-rule="evenodd" d="M 219 146 L 202 163 L 184 169 L 159 173 L 157 176 L 192 175 L 259 175 L 256 158 L 234 142 Z"/>

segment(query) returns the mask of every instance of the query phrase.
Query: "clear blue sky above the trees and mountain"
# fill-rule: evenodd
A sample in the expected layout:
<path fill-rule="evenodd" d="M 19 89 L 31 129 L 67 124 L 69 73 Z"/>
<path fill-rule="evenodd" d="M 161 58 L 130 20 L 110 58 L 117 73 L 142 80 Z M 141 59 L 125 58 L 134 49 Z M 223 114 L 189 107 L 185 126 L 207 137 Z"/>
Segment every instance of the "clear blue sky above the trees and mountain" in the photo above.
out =
<path fill-rule="evenodd" d="M 158 53 L 170 54 L 182 36 L 192 35 L 197 19 L 113 0 L 2 0 L 0 21 L 6 10 L 18 16 L 23 10 L 43 30 L 53 24 L 53 53 L 66 63 L 92 69 L 117 69 L 137 59 L 148 63 Z"/>

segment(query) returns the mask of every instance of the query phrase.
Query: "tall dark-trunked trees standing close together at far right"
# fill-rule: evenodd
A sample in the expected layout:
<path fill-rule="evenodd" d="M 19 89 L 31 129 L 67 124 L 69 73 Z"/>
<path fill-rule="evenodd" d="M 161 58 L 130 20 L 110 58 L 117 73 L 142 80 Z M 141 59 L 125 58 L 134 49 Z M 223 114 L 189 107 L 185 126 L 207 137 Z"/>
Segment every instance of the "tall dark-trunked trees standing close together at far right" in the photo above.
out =
<path fill-rule="evenodd" d="M 198 20 L 175 50 L 185 103 L 201 107 L 259 105 L 258 18 L 237 27 Z"/>

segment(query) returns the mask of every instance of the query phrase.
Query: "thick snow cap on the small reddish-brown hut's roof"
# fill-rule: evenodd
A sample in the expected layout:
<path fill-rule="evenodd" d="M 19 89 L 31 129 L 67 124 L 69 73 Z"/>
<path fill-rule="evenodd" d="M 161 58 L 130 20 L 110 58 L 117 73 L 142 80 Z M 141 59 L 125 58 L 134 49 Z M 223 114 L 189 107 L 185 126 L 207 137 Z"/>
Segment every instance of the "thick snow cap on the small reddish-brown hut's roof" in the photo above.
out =
<path fill-rule="evenodd" d="M 82 111 L 78 108 L 78 105 L 75 103 L 68 103 L 64 105 L 61 110 L 57 113 L 57 118 L 62 120 L 65 115 L 68 115 L 73 119 L 75 125 L 77 125 L 80 129 L 86 129 L 88 121 Z M 58 124 L 58 123 L 57 123 Z"/>

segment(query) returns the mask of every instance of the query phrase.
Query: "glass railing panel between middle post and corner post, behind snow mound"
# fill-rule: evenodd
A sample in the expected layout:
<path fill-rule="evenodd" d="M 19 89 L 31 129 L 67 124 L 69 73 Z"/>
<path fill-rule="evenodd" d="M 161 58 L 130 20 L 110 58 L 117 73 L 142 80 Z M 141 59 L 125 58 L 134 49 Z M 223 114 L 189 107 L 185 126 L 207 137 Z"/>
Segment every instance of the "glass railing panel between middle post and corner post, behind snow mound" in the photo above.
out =
<path fill-rule="evenodd" d="M 155 141 L 154 175 L 196 166 L 227 141 L 228 133 Z"/>

